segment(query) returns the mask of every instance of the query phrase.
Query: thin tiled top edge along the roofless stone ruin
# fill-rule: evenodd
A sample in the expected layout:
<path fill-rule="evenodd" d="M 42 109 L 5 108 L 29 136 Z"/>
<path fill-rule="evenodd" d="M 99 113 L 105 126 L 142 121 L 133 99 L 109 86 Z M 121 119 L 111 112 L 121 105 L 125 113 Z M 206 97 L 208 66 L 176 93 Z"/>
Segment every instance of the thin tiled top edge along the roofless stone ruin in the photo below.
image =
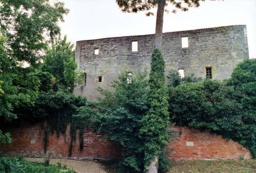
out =
<path fill-rule="evenodd" d="M 190 29 L 190 30 L 181 30 L 181 31 L 171 31 L 171 32 L 164 32 L 163 34 L 171 34 L 171 33 L 187 32 L 187 31 L 203 31 L 203 30 L 210 30 L 210 29 L 230 28 L 230 27 L 239 27 L 239 26 L 246 26 L 246 24 L 234 24 L 234 25 L 221 26 L 221 27 L 201 28 L 201 29 Z M 139 36 L 153 36 L 153 35 L 154 35 L 154 34 L 131 35 L 131 36 L 120 36 L 120 37 L 105 37 L 105 38 L 97 38 L 97 39 L 78 40 L 77 42 L 86 42 L 86 41 L 102 40 L 102 39 L 110 39 L 110 38 L 139 37 Z"/>

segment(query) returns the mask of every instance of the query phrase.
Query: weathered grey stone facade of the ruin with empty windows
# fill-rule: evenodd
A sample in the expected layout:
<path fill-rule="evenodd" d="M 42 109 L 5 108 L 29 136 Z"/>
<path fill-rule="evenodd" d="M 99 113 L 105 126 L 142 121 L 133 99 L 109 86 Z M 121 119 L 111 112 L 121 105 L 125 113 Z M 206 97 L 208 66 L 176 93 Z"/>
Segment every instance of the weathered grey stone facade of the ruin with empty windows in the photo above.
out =
<path fill-rule="evenodd" d="M 187 48 L 182 48 L 182 37 L 188 37 Z M 134 41 L 138 42 L 137 52 L 132 52 Z M 78 70 L 86 73 L 86 84 L 76 87 L 74 93 L 93 99 L 99 96 L 97 87 L 109 87 L 124 70 L 149 72 L 153 48 L 154 35 L 78 41 L 76 61 Z M 205 78 L 206 67 L 211 67 L 213 79 L 226 79 L 239 62 L 249 59 L 246 26 L 166 32 L 162 52 L 166 75 L 171 69 L 184 69 L 185 75 Z"/>

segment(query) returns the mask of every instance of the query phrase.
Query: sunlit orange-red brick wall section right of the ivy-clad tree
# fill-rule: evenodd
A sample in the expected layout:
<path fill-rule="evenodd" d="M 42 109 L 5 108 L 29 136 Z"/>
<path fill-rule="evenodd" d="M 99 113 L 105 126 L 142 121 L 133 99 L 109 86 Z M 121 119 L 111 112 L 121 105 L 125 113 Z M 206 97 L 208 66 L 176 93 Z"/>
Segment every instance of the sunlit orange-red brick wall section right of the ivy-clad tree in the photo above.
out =
<path fill-rule="evenodd" d="M 181 128 L 181 135 L 167 150 L 168 157 L 175 160 L 251 158 L 250 151 L 233 140 L 187 127 Z"/>

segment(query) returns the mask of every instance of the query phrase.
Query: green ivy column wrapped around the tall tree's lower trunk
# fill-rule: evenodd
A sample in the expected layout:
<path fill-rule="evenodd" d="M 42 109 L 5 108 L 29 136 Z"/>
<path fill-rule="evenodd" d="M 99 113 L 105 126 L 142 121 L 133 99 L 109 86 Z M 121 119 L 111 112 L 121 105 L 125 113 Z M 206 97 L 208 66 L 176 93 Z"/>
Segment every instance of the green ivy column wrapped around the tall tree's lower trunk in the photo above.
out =
<path fill-rule="evenodd" d="M 165 62 L 161 51 L 155 49 L 149 74 L 149 111 L 141 120 L 140 133 L 145 145 L 145 169 L 158 157 L 168 142 L 169 112 L 165 84 Z"/>

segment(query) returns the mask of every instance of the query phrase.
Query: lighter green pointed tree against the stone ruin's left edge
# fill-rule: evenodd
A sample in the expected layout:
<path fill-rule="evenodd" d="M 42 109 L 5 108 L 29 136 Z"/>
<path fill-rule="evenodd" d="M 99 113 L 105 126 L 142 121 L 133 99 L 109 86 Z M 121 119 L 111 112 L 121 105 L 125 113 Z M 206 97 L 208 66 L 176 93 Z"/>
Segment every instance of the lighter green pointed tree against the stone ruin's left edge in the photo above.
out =
<path fill-rule="evenodd" d="M 73 45 L 67 42 L 67 37 L 53 40 L 46 51 L 42 71 L 49 72 L 57 80 L 58 88 L 68 88 L 73 91 L 79 73 L 76 71 L 75 52 Z"/>

